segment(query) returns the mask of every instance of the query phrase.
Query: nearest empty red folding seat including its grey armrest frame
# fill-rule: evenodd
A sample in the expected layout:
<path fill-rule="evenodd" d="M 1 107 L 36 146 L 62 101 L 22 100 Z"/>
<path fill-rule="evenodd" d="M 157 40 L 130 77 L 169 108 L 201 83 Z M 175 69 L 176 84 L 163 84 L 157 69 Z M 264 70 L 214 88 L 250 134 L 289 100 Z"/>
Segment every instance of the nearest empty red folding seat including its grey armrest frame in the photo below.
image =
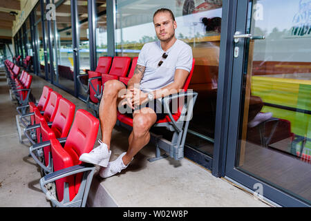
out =
<path fill-rule="evenodd" d="M 59 140 L 50 140 L 54 172 L 42 177 L 40 186 L 49 195 L 45 184 L 55 182 L 57 198 L 50 195 L 55 206 L 85 206 L 95 167 L 84 166 L 79 156 L 93 149 L 99 124 L 91 113 L 79 109 L 64 148 Z"/>

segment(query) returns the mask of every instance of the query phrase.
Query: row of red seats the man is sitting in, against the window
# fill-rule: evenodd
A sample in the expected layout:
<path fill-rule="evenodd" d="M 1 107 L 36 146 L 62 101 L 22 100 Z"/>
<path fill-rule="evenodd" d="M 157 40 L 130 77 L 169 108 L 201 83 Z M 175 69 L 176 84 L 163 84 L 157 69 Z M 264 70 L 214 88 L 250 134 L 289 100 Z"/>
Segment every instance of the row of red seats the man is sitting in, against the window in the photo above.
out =
<path fill-rule="evenodd" d="M 122 81 L 127 85 L 129 79 L 133 77 L 137 61 L 138 57 L 134 57 L 132 62 L 130 57 L 100 57 L 96 70 L 88 71 L 88 87 L 86 88 L 86 92 L 88 93 L 86 104 L 88 108 L 92 108 L 95 111 L 95 114 L 98 115 L 98 108 L 104 84 L 107 81 L 114 79 Z M 130 64 L 131 68 L 129 70 Z M 187 136 L 189 121 L 191 119 L 189 116 L 192 116 L 194 104 L 198 96 L 198 93 L 188 91 L 188 86 L 194 73 L 194 64 L 195 59 L 193 59 L 191 72 L 185 81 L 182 93 L 164 97 L 162 100 L 162 106 L 165 111 L 164 113 L 168 114 L 164 119 L 158 120 L 154 126 L 167 128 L 169 131 L 173 132 L 173 137 L 171 142 L 161 142 L 159 139 L 156 139 L 156 157 L 152 160 L 161 159 L 159 148 L 167 151 L 175 160 L 180 160 L 184 156 L 185 139 Z M 80 77 L 85 77 L 85 75 L 80 75 L 79 78 Z M 171 102 L 180 99 L 187 102 L 181 102 L 176 113 L 171 113 L 169 107 Z M 133 118 L 118 111 L 117 125 L 132 128 Z"/>

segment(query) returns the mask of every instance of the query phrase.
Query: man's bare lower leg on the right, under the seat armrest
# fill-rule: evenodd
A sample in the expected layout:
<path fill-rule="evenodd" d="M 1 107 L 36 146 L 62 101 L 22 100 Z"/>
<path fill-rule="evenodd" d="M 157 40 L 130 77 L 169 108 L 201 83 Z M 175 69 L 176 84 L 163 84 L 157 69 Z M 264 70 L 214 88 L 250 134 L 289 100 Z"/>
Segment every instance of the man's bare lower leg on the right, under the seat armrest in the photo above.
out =
<path fill-rule="evenodd" d="M 133 157 L 149 143 L 149 130 L 156 123 L 157 115 L 151 108 L 142 108 L 133 113 L 133 131 L 129 136 L 129 148 L 122 157 L 124 165 L 131 162 Z"/>

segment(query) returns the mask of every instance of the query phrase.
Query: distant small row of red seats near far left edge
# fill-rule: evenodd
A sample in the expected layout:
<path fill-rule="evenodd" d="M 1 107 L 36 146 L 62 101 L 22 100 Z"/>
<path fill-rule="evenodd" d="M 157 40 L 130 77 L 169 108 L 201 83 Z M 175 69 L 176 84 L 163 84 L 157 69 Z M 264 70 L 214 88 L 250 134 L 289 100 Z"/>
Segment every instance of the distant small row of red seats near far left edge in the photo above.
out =
<path fill-rule="evenodd" d="M 21 68 L 8 59 L 4 62 L 6 67 L 6 74 L 8 84 L 10 86 L 10 93 L 15 95 L 15 99 L 20 105 L 28 103 L 30 97 L 30 86 L 32 83 L 32 75 L 22 70 Z"/>

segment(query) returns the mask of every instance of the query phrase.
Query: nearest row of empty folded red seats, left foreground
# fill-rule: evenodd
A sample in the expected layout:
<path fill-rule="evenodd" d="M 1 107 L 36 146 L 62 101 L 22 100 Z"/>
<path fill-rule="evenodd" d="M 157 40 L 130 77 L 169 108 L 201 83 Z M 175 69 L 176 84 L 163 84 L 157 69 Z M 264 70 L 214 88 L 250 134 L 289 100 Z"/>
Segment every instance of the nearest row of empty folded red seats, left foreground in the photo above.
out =
<path fill-rule="evenodd" d="M 37 103 L 18 106 L 17 112 L 32 144 L 30 155 L 41 168 L 46 197 L 53 206 L 85 206 L 95 166 L 82 164 L 79 156 L 93 149 L 99 120 L 83 109 L 75 113 L 75 104 L 48 86 Z"/>

